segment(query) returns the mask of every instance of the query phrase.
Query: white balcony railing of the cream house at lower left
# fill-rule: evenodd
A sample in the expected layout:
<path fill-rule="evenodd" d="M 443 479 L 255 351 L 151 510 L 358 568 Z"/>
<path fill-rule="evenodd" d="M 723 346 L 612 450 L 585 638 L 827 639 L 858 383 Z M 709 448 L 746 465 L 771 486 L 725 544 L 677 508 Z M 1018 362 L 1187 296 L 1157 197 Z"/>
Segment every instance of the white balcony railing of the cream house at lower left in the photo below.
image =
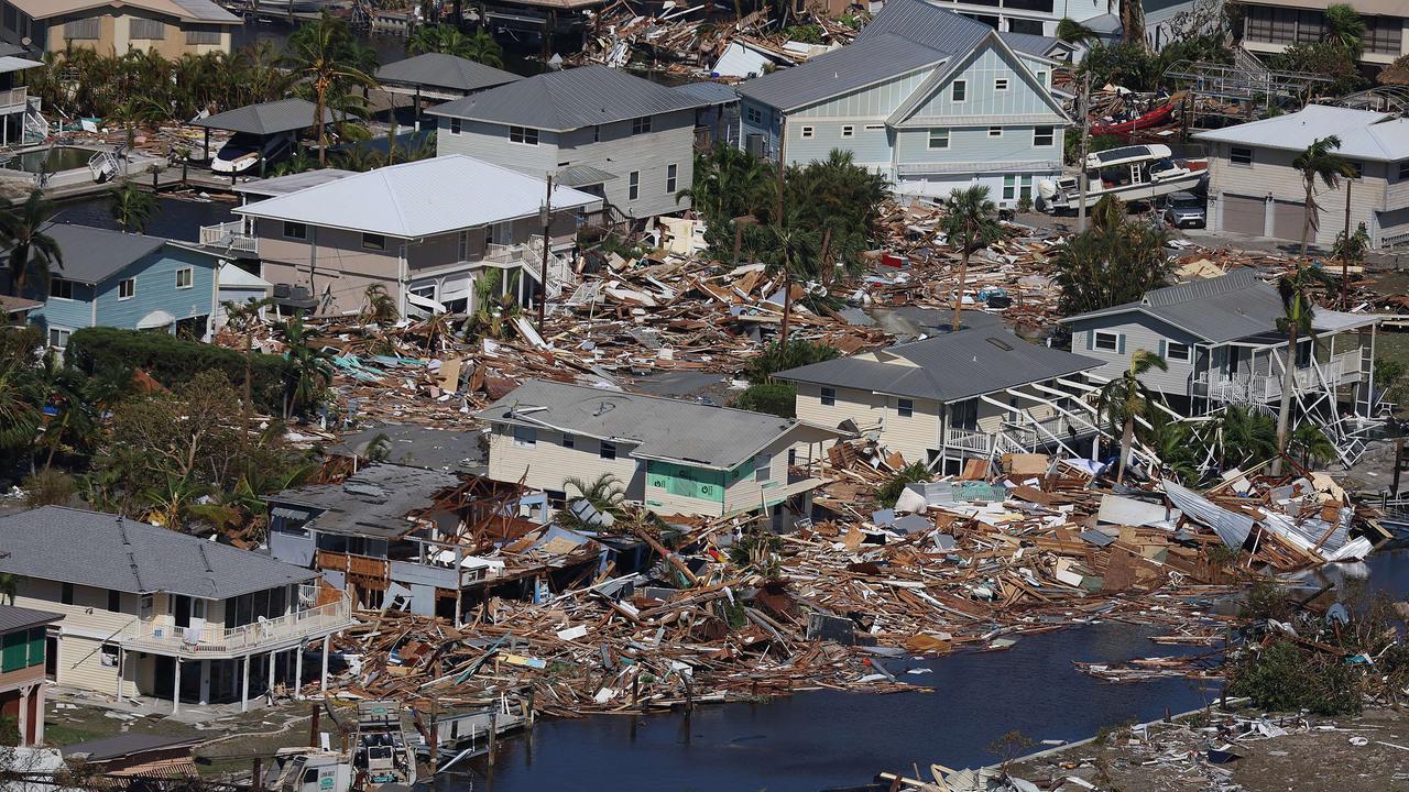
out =
<path fill-rule="evenodd" d="M 258 650 L 265 644 L 302 638 L 351 624 L 352 603 L 347 595 L 337 602 L 296 610 L 240 627 L 207 624 L 199 630 L 154 621 L 137 621 L 123 637 L 124 645 L 137 650 L 180 651 L 190 654 L 225 654 Z"/>

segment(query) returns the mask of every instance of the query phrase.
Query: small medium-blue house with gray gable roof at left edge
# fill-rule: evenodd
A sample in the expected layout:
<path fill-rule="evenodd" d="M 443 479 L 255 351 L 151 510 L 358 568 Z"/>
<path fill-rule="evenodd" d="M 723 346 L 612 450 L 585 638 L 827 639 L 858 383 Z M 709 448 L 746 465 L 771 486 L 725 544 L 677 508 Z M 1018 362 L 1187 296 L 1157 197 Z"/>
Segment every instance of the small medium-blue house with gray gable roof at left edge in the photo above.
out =
<path fill-rule="evenodd" d="M 80 327 L 121 327 L 189 333 L 210 328 L 220 258 L 159 237 L 123 234 L 87 225 L 55 224 L 63 266 L 48 282 L 27 286 L 42 306 L 30 323 L 48 330 L 49 345 L 68 345 Z"/>

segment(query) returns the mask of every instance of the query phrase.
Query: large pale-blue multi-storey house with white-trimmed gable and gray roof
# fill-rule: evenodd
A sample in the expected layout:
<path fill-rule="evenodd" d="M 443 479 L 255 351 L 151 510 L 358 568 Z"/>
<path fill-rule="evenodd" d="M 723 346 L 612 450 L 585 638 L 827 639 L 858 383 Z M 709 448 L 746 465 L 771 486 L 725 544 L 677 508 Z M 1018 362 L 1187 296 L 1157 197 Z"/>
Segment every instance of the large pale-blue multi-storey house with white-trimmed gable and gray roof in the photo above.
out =
<path fill-rule="evenodd" d="M 889 0 L 851 45 L 741 83 L 741 145 L 788 163 L 850 151 L 898 193 L 978 183 L 1013 206 L 1061 172 L 1071 118 L 1051 94 L 1055 44 Z"/>

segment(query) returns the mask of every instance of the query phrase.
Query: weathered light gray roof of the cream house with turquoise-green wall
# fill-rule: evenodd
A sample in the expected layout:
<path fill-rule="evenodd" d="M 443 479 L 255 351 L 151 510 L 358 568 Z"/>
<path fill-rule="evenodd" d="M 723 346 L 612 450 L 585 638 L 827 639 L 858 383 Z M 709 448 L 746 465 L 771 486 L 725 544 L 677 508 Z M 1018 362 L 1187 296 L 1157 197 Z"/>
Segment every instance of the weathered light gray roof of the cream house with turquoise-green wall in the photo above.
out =
<path fill-rule="evenodd" d="M 621 451 L 714 469 L 735 468 L 799 426 L 762 413 L 541 379 L 520 385 L 479 417 L 634 444 Z"/>

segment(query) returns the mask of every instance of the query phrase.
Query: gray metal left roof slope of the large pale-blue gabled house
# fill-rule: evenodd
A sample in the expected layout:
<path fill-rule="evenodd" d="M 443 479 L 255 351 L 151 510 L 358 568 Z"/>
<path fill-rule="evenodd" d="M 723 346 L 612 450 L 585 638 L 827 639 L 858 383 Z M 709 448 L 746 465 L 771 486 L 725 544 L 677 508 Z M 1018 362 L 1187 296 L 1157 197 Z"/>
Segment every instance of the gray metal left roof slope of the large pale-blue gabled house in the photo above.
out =
<path fill-rule="evenodd" d="M 890 6 L 886 4 L 876 20 L 889 10 Z M 865 41 L 857 38 L 848 47 L 833 49 L 799 66 L 740 83 L 738 93 L 769 107 L 795 110 L 898 75 L 933 68 L 945 58 L 947 54 L 900 35 L 874 35 Z"/>

